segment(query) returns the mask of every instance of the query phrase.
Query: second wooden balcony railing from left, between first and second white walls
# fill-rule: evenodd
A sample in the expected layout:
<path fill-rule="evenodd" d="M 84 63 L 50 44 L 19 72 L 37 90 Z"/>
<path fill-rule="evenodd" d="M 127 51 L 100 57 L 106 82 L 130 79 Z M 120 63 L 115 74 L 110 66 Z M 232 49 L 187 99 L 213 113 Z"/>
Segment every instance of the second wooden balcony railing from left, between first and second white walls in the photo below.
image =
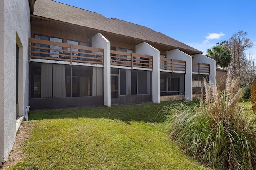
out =
<path fill-rule="evenodd" d="M 111 65 L 153 69 L 153 56 L 111 50 Z"/>

